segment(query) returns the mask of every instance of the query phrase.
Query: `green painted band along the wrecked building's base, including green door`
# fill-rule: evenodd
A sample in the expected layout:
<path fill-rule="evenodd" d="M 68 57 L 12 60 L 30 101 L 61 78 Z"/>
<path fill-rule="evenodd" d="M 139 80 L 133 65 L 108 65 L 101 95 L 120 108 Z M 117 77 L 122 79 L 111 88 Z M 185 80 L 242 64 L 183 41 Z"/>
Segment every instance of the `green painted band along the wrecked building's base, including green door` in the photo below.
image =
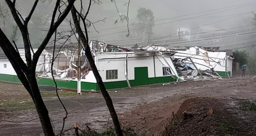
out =
<path fill-rule="evenodd" d="M 176 77 L 173 77 L 173 76 L 148 78 L 147 67 L 134 68 L 134 74 L 135 74 L 135 79 L 129 80 L 131 86 L 167 83 L 167 82 L 173 82 L 173 81 L 177 80 Z M 0 74 L 0 81 L 21 83 L 16 75 L 8 75 L 8 74 Z M 50 78 L 38 78 L 37 82 L 38 82 L 38 85 L 55 86 L 54 82 Z M 57 83 L 58 87 L 61 87 L 61 88 L 70 88 L 70 89 L 77 88 L 76 81 L 56 80 L 56 83 Z M 105 82 L 104 85 L 105 85 L 106 89 L 128 87 L 126 80 L 125 81 L 115 81 L 115 82 Z M 81 89 L 82 90 L 97 90 L 97 91 L 100 90 L 97 83 L 88 83 L 88 82 L 81 82 Z"/>

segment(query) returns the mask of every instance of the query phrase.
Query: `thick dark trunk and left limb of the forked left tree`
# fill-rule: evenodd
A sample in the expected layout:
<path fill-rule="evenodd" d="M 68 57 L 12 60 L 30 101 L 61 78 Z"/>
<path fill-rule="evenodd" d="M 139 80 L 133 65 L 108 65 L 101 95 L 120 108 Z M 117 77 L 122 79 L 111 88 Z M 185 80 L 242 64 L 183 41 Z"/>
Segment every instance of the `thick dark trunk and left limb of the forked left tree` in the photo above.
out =
<path fill-rule="evenodd" d="M 2 36 L 1 38 L 6 38 L 5 35 L 1 35 L 1 32 L 2 31 L 0 30 L 0 36 Z M 21 65 L 17 64 L 17 61 L 19 61 L 17 58 L 20 56 L 17 54 L 17 52 L 16 53 L 9 52 L 8 50 L 11 50 L 13 47 L 12 47 L 12 45 L 10 45 L 9 48 L 7 48 L 8 44 L 10 44 L 9 41 L 0 39 L 0 47 L 5 52 L 5 55 L 11 62 L 15 72 L 17 73 L 19 80 L 24 85 L 26 90 L 29 92 L 29 95 L 31 96 L 31 98 L 35 104 L 35 107 L 37 109 L 37 112 L 38 112 L 38 115 L 39 115 L 39 118 L 41 121 L 44 135 L 45 136 L 54 136 L 51 120 L 48 115 L 48 110 L 44 105 L 44 102 L 42 100 L 42 97 L 41 97 L 41 94 L 40 94 L 40 91 L 39 91 L 39 88 L 37 85 L 35 70 L 34 70 L 34 72 L 31 72 L 33 70 L 30 69 L 29 70 L 30 73 L 26 72 L 26 75 L 25 75 L 24 72 L 21 70 Z M 13 50 L 13 51 L 15 51 L 15 50 Z"/>

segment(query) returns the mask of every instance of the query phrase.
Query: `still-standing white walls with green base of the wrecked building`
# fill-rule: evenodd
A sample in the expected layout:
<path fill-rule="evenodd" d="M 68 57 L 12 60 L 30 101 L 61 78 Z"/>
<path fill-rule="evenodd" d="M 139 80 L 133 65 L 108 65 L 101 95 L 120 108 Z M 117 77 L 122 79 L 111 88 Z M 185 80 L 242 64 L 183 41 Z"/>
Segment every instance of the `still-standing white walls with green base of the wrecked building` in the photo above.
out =
<path fill-rule="evenodd" d="M 125 88 L 138 85 L 150 85 L 176 81 L 177 71 L 170 56 L 161 52 L 99 52 L 94 53 L 95 64 L 107 89 Z M 45 57 L 45 56 L 44 56 Z M 40 63 L 45 62 L 42 57 Z M 164 59 L 165 58 L 165 59 Z M 39 64 L 38 70 L 42 70 Z M 54 86 L 50 77 L 38 77 L 39 85 Z M 0 60 L 0 81 L 17 82 L 13 67 L 8 60 Z M 58 87 L 77 89 L 76 79 L 56 78 Z M 92 71 L 81 79 L 82 90 L 99 90 Z"/>

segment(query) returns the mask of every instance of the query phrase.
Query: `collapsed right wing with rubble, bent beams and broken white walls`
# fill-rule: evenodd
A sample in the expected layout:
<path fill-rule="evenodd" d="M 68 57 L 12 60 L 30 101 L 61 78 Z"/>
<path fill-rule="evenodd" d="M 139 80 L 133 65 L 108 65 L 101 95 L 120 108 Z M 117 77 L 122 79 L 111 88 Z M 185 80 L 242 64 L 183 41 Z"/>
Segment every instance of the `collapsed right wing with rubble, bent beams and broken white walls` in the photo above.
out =
<path fill-rule="evenodd" d="M 175 67 L 181 78 L 231 77 L 233 54 L 228 51 L 205 51 L 198 47 L 175 50 Z"/>

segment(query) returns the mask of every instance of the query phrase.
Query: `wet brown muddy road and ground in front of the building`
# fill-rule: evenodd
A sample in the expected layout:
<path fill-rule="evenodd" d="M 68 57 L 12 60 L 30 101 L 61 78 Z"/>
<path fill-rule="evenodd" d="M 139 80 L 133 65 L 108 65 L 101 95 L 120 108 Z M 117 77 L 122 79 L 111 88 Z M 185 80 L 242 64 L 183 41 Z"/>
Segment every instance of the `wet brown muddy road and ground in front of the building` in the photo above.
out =
<path fill-rule="evenodd" d="M 171 120 L 172 112 L 176 113 L 184 100 L 195 96 L 256 99 L 255 81 L 251 78 L 206 79 L 164 86 L 148 85 L 121 89 L 117 90 L 119 91 L 117 93 L 111 91 L 110 95 L 123 126 L 132 126 L 140 132 L 145 132 L 146 135 L 159 135 Z M 29 97 L 24 95 L 26 92 L 22 85 L 1 83 L 0 86 L 0 119 L 26 121 L 37 118 L 33 106 L 18 105 L 25 107 L 26 110 L 22 110 L 13 108 L 17 105 L 6 104 L 10 101 L 10 97 L 12 101 L 29 102 Z M 81 96 L 62 94 L 61 98 L 69 113 L 64 129 L 70 128 L 74 123 L 88 124 L 95 130 L 106 128 L 109 112 L 100 93 L 85 93 Z M 62 126 L 65 112 L 53 94 L 45 95 L 44 101 L 57 133 Z M 39 120 L 27 123 L 0 121 L 0 130 L 1 136 L 32 136 L 42 133 Z"/>

